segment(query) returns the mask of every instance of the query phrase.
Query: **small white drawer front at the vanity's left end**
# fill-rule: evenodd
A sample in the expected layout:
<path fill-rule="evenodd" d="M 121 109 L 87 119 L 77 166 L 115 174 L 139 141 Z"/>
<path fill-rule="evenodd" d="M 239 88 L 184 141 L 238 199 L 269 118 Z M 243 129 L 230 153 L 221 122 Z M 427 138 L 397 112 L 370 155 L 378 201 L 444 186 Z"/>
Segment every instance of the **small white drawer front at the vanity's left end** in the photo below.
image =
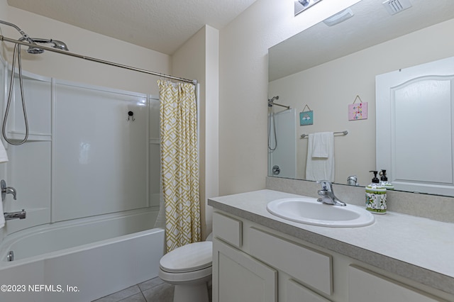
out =
<path fill-rule="evenodd" d="M 213 235 L 236 247 L 243 245 L 243 225 L 240 220 L 213 213 Z"/>

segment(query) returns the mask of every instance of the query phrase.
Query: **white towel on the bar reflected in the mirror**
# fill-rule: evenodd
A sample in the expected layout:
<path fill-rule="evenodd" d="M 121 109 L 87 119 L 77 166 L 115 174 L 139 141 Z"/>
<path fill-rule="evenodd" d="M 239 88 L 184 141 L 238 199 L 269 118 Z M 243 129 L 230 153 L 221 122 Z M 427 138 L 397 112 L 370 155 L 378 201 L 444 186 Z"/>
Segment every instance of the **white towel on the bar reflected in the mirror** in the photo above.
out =
<path fill-rule="evenodd" d="M 314 145 L 320 146 L 314 148 Z M 314 156 L 314 150 L 317 156 Z M 334 181 L 334 133 L 309 134 L 306 179 Z"/>

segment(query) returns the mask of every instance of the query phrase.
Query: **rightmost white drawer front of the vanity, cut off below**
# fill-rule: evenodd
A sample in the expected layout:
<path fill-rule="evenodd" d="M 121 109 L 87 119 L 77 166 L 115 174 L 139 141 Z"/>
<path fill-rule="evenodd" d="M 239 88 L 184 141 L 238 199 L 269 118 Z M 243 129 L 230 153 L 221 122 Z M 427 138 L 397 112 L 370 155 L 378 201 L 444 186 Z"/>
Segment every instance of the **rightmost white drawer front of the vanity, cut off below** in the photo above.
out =
<path fill-rule="evenodd" d="M 435 302 L 433 296 L 355 265 L 348 267 L 350 302 Z"/>

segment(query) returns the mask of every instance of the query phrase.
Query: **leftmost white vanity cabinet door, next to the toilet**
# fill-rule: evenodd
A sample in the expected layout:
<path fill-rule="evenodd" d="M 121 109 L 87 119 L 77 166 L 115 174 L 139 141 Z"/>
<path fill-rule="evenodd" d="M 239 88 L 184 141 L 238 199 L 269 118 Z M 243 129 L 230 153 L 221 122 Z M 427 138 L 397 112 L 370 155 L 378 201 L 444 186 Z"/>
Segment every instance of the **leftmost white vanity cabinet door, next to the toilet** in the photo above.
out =
<path fill-rule="evenodd" d="M 277 271 L 213 240 L 213 302 L 277 302 Z"/>

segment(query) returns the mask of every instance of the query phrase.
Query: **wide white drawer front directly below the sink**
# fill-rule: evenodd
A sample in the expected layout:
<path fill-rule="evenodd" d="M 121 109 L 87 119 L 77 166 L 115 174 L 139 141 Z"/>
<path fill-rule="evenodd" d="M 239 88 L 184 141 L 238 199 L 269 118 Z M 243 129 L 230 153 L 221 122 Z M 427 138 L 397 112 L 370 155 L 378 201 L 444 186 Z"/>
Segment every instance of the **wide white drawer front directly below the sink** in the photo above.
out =
<path fill-rule="evenodd" d="M 333 292 L 330 255 L 297 245 L 275 235 L 250 228 L 250 255 L 261 259 L 304 284 L 331 295 Z"/>

